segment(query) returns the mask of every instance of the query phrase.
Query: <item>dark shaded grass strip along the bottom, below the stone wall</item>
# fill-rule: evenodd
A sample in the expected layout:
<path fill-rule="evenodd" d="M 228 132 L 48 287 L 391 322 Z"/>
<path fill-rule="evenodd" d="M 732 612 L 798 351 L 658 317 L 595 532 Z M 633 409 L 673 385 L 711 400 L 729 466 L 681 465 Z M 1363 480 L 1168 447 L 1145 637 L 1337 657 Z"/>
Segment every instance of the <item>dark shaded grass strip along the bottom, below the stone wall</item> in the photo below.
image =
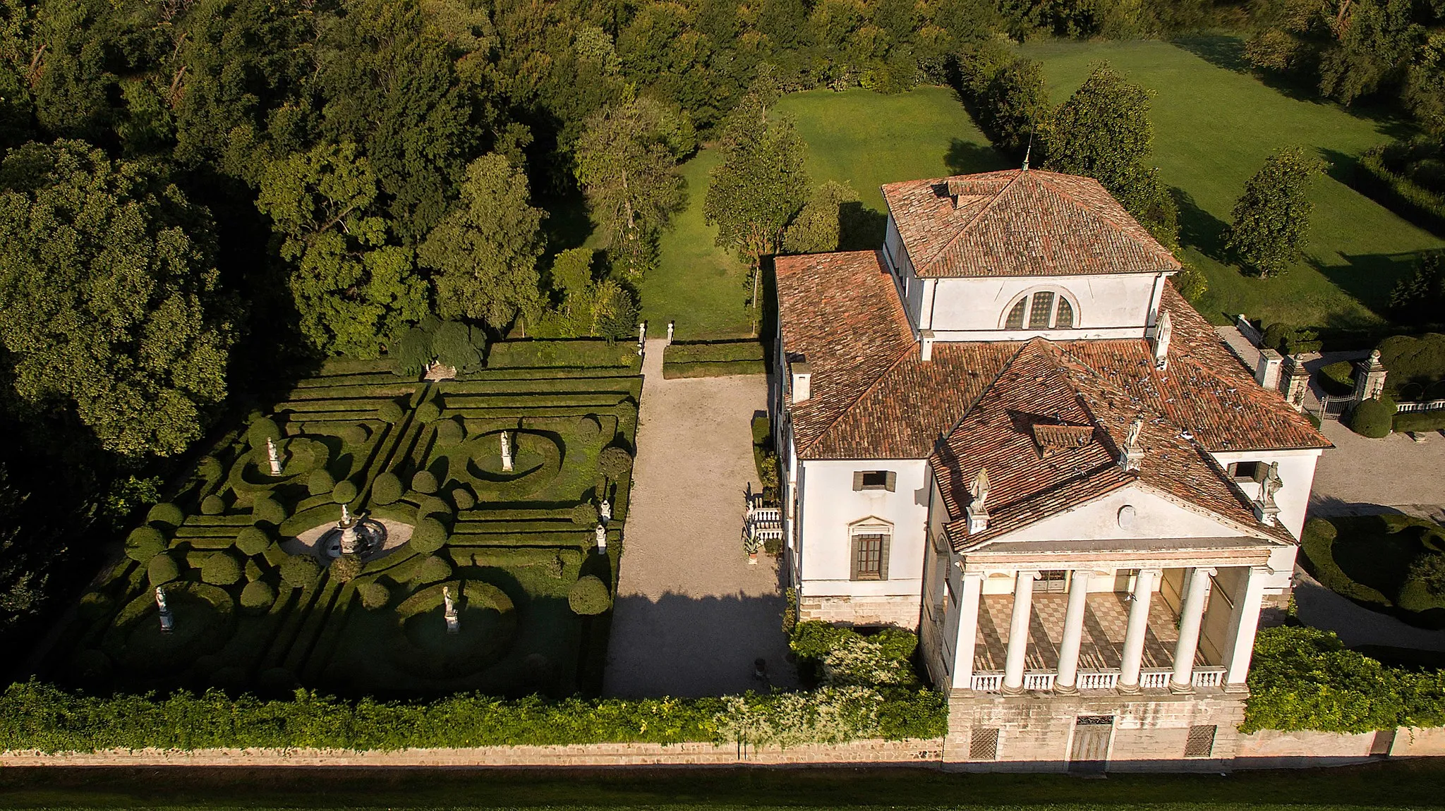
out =
<path fill-rule="evenodd" d="M 1030 808 L 1327 811 L 1439 807 L 1435 759 L 1233 775 L 946 775 L 931 769 L 4 769 L 0 808 Z"/>

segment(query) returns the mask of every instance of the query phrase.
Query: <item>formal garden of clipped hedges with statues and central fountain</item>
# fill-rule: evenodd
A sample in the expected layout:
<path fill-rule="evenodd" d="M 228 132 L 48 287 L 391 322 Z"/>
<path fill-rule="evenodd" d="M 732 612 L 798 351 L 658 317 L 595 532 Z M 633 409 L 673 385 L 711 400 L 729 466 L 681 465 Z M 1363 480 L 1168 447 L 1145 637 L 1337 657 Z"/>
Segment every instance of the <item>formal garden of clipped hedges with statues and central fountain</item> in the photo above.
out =
<path fill-rule="evenodd" d="M 634 351 L 607 342 L 500 343 L 486 368 L 438 381 L 331 359 L 210 446 L 130 531 L 42 675 L 118 691 L 592 694 L 640 385 Z"/>

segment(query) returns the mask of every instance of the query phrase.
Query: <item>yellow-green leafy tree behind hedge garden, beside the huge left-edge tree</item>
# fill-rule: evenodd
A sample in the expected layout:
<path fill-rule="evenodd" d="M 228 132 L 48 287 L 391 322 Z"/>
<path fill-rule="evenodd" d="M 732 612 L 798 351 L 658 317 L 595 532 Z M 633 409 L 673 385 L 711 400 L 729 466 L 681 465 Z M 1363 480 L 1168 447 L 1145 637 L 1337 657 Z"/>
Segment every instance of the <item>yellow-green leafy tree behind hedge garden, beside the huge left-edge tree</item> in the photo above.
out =
<path fill-rule="evenodd" d="M 387 244 L 371 214 L 377 180 L 355 144 L 319 144 L 272 162 L 256 208 L 272 218 L 301 332 L 322 352 L 376 358 L 426 315 L 412 251 Z"/>

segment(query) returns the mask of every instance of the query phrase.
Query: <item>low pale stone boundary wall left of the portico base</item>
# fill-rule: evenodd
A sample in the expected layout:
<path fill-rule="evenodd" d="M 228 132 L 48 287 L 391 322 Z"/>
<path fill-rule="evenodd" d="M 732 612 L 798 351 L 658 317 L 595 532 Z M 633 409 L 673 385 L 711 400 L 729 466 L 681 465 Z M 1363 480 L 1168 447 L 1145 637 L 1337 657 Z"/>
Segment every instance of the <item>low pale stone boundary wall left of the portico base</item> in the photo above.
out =
<path fill-rule="evenodd" d="M 938 768 L 944 739 L 854 740 L 741 748 L 736 743 L 572 743 L 473 749 L 108 749 L 103 752 L 0 752 L 4 766 L 831 766 L 923 765 Z"/>

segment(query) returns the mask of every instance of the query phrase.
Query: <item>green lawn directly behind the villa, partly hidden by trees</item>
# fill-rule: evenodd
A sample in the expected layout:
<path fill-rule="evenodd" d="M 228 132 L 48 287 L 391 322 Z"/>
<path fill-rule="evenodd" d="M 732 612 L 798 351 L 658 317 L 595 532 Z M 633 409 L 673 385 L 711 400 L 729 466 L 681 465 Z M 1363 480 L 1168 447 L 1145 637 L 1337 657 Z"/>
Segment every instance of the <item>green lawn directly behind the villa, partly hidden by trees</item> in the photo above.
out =
<path fill-rule="evenodd" d="M 899 95 L 809 91 L 783 98 L 776 108 L 798 118 L 808 141 L 812 185 L 845 180 L 863 205 L 879 214 L 870 218 L 876 237 L 870 245 L 881 244 L 881 183 L 1003 166 L 951 89 L 926 87 Z M 682 167 L 688 208 L 662 238 L 660 267 L 642 283 L 643 317 L 655 335 L 669 320 L 676 320 L 676 336 L 683 341 L 750 335 L 747 268 L 714 244 L 717 228 L 702 222 L 708 172 L 718 160 L 717 150 L 704 149 Z"/>

